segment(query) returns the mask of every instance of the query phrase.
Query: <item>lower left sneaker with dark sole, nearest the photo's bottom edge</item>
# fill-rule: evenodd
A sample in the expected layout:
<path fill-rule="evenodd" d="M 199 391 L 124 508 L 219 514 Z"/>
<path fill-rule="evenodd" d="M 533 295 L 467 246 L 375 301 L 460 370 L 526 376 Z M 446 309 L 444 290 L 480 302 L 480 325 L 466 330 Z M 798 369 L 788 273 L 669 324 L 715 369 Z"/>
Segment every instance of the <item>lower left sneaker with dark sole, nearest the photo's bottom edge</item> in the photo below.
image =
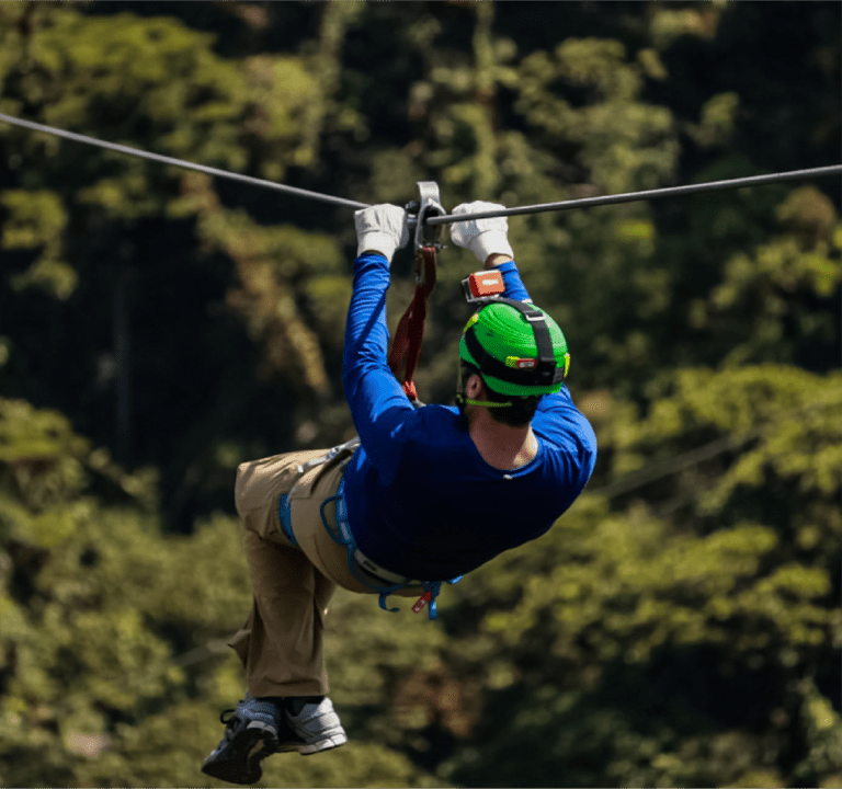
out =
<path fill-rule="evenodd" d="M 263 775 L 261 761 L 281 750 L 278 732 L 288 740 L 281 710 L 271 701 L 246 694 L 237 709 L 225 710 L 219 720 L 226 724 L 225 736 L 205 759 L 202 771 L 230 784 L 255 784 Z M 285 742 L 283 750 L 297 750 L 301 743 L 293 744 Z"/>

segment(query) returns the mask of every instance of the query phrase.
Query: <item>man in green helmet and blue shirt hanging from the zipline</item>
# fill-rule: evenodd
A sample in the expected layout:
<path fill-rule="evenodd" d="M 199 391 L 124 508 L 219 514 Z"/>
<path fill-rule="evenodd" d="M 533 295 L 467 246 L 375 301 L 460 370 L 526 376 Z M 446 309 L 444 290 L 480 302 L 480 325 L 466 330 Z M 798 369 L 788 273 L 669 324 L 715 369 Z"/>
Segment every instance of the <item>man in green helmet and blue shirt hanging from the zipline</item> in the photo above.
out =
<path fill-rule="evenodd" d="M 497 208 L 458 206 L 454 214 Z M 254 604 L 234 638 L 248 693 L 203 771 L 253 784 L 272 753 L 346 742 L 327 693 L 321 636 L 337 584 L 418 596 L 546 533 L 584 488 L 596 441 L 564 386 L 556 322 L 532 307 L 504 218 L 451 237 L 497 268 L 503 299 L 482 306 L 459 344 L 457 407 L 416 409 L 387 362 L 386 290 L 408 230 L 401 208 L 357 211 L 357 258 L 343 384 L 359 446 L 278 455 L 238 469 Z"/>

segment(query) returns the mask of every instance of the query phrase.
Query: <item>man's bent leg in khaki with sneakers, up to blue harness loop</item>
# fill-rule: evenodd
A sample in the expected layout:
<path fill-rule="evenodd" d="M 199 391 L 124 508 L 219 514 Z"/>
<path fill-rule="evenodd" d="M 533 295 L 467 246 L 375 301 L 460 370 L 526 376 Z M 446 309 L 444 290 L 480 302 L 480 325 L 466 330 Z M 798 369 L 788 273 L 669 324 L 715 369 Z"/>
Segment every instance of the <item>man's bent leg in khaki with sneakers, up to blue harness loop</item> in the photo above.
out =
<path fill-rule="evenodd" d="M 284 535 L 278 500 L 298 480 L 297 467 L 323 453 L 291 453 L 243 464 L 235 500 L 244 528 L 254 591 L 246 626 L 230 645 L 246 668 L 249 691 L 202 770 L 236 784 L 260 779 L 260 761 L 277 751 L 303 754 L 346 742 L 322 668 L 323 618 L 335 584 Z"/>

